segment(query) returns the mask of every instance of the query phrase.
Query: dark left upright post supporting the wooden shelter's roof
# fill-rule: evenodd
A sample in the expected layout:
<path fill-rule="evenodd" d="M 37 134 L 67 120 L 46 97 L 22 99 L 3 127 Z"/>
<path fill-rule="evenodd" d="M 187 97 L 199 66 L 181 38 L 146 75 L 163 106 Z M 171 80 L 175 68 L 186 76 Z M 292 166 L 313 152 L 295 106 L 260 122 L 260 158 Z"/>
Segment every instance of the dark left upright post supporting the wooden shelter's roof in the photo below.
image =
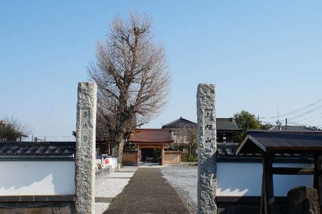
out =
<path fill-rule="evenodd" d="M 273 153 L 263 153 L 264 210 L 274 214 Z"/>

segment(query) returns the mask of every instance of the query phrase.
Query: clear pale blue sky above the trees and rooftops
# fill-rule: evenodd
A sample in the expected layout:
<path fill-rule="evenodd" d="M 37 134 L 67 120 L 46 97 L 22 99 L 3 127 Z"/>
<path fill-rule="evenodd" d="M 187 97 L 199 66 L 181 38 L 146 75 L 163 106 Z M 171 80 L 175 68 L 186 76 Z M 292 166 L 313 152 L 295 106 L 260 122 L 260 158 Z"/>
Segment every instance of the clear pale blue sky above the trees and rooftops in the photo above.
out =
<path fill-rule="evenodd" d="M 320 1 L 0 1 L 0 117 L 14 115 L 35 136 L 70 136 L 77 82 L 128 9 L 152 17 L 172 71 L 171 101 L 146 128 L 196 121 L 200 82 L 217 84 L 217 117 L 270 117 L 277 105 L 282 114 L 322 97 Z"/>

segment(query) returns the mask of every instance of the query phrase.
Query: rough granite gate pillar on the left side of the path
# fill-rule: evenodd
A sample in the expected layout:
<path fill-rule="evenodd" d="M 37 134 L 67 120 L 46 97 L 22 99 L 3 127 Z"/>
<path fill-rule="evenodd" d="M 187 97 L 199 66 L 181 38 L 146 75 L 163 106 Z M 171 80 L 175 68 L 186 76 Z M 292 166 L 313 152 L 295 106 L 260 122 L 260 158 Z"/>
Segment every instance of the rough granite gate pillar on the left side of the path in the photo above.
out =
<path fill-rule="evenodd" d="M 75 212 L 95 213 L 95 131 L 97 85 L 78 82 L 76 154 L 75 154 Z"/>

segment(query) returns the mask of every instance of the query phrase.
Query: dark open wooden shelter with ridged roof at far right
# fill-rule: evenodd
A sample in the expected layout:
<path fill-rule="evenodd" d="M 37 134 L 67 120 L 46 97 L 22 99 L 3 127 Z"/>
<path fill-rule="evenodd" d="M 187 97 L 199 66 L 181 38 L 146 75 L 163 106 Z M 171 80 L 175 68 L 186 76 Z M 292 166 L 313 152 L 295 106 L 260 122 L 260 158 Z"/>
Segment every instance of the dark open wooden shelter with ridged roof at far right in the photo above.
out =
<path fill-rule="evenodd" d="M 313 175 L 313 187 L 317 189 L 322 204 L 322 132 L 287 132 L 271 130 L 248 130 L 236 148 L 237 154 L 262 154 L 263 179 L 261 213 L 274 213 L 273 174 Z M 278 154 L 310 154 L 314 157 L 314 168 L 273 167 Z"/>

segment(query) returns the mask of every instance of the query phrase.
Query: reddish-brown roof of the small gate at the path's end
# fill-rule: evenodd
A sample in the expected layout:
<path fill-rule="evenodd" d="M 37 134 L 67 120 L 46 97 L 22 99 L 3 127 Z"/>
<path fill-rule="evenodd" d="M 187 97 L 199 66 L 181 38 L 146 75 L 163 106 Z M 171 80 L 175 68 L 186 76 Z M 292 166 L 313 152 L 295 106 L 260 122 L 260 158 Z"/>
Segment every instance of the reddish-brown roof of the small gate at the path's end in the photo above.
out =
<path fill-rule="evenodd" d="M 174 135 L 170 129 L 133 129 L 128 137 L 131 143 L 170 144 Z"/>

